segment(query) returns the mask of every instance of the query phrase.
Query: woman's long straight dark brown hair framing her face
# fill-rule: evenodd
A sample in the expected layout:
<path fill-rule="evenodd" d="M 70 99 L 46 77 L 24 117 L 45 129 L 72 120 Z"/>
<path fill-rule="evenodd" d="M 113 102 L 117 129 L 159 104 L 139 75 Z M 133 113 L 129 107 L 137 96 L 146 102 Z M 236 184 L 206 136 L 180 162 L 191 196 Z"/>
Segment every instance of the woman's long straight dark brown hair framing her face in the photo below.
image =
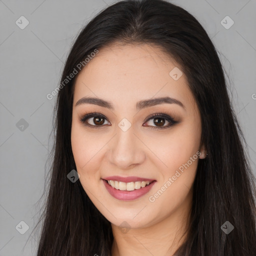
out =
<path fill-rule="evenodd" d="M 204 28 L 186 10 L 164 0 L 119 1 L 81 30 L 61 81 L 88 54 L 113 42 L 160 47 L 179 63 L 199 108 L 201 145 L 208 155 L 198 161 L 191 223 L 175 255 L 256 255 L 255 178 L 224 68 Z M 67 178 L 76 170 L 70 141 L 75 77 L 59 88 L 56 98 L 54 145 L 44 189 L 47 197 L 37 223 L 42 221 L 37 256 L 109 256 L 113 242 L 110 222 L 93 205 L 80 181 Z M 221 229 L 225 221 L 234 226 L 228 234 Z"/>

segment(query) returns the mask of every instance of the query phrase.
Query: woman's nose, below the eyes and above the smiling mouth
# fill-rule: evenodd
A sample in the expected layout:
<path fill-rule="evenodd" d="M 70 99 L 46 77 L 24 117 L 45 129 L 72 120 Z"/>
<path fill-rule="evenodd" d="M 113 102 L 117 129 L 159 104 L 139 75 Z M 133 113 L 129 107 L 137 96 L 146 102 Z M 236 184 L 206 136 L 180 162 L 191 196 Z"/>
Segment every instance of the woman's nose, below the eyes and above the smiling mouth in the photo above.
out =
<path fill-rule="evenodd" d="M 116 134 L 108 143 L 108 162 L 118 169 L 130 169 L 145 159 L 143 143 L 133 132 L 132 126 L 126 131 L 116 127 Z"/>

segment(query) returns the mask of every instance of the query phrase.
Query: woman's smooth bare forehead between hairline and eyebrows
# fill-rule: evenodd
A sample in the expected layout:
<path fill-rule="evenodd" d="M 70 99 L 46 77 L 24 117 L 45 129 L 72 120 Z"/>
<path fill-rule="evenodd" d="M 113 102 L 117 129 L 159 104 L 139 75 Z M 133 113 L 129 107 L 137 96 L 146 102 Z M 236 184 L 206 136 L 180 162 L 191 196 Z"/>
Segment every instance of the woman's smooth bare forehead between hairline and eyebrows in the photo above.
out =
<path fill-rule="evenodd" d="M 193 96 L 181 69 L 174 59 L 154 45 L 112 44 L 99 49 L 78 74 L 74 103 L 88 95 L 126 105 L 154 96 L 175 97 L 189 104 Z M 182 75 L 175 80 L 171 70 L 179 70 Z"/>

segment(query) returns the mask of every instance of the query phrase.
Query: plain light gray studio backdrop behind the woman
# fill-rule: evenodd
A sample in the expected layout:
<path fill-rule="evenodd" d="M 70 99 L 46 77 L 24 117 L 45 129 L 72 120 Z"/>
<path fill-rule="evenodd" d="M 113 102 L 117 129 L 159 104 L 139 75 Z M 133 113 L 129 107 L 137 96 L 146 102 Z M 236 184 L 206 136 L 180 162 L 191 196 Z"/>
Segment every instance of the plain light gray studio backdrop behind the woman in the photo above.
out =
<path fill-rule="evenodd" d="M 113 2 L 0 0 L 0 256 L 35 255 L 37 237 L 30 234 L 39 217 L 56 98 L 46 94 L 57 86 L 78 31 Z M 256 0 L 171 2 L 198 19 L 219 52 L 256 174 Z M 29 21 L 24 29 L 15 23 L 21 15 Z M 229 29 L 220 23 L 226 15 L 234 21 Z M 21 118 L 27 127 L 19 126 Z M 29 226 L 24 234 L 15 228 L 22 220 Z"/>

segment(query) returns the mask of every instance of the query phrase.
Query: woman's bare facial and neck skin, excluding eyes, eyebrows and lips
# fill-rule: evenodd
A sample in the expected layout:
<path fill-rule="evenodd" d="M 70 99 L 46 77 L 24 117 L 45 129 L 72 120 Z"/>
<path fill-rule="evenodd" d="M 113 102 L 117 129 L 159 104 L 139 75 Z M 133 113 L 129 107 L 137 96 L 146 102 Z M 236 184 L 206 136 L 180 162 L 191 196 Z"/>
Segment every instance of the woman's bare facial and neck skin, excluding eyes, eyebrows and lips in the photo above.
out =
<path fill-rule="evenodd" d="M 72 152 L 85 192 L 111 222 L 112 256 L 173 255 L 186 237 L 192 184 L 198 160 L 206 152 L 203 146 L 199 148 L 201 120 L 194 97 L 184 73 L 178 80 L 169 75 L 174 67 L 181 70 L 173 59 L 153 45 L 112 44 L 100 49 L 75 81 Z M 75 106 L 84 96 L 110 101 L 114 109 L 91 103 Z M 161 103 L 139 111 L 135 108 L 139 100 L 165 96 L 178 99 L 185 109 L 175 103 Z M 103 125 L 85 126 L 79 120 L 85 112 L 103 114 Z M 159 127 L 153 122 L 155 117 L 146 121 L 153 113 L 166 113 L 179 123 L 150 129 L 150 126 Z M 118 126 L 123 118 L 131 124 L 125 132 Z M 93 122 L 93 117 L 87 122 L 98 124 Z M 162 126 L 168 124 L 165 119 Z M 196 154 L 198 151 L 200 156 Z M 149 196 L 164 184 L 166 187 L 169 177 L 193 155 L 197 158 L 189 167 L 182 173 L 179 171 L 180 176 L 150 201 Z M 156 183 L 135 200 L 118 200 L 108 193 L 101 179 L 111 175 L 146 177 L 155 179 Z"/>

